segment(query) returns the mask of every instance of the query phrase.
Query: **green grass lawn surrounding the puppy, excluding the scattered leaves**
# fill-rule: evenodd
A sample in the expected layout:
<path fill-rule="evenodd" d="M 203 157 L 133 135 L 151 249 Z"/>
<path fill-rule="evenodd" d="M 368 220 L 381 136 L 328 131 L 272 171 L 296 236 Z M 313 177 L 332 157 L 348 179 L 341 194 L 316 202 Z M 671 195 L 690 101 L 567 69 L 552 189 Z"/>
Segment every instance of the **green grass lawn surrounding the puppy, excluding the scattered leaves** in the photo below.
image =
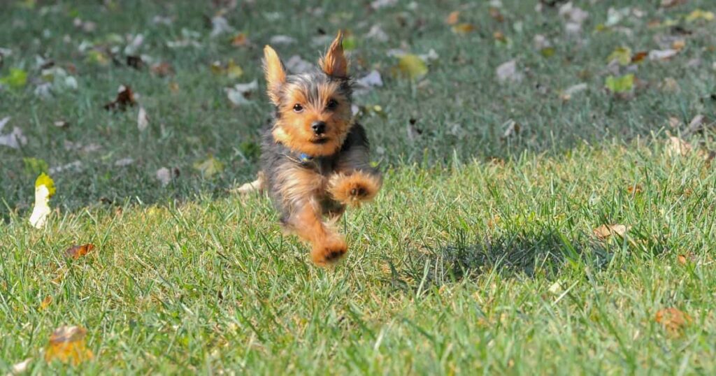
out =
<path fill-rule="evenodd" d="M 238 48 L 208 37 L 202 16 L 217 9 L 199 2 L 40 3 L 0 16 L 0 47 L 13 51 L 0 77 L 29 72 L 26 87 L 0 91 L 0 118 L 12 117 L 3 134 L 17 126 L 28 138 L 19 150 L 0 146 L 0 374 L 27 357 L 37 374 L 716 371 L 716 173 L 697 155 L 670 156 L 663 142 L 665 130 L 686 130 L 669 127 L 670 116 L 684 124 L 716 117 L 716 21 L 680 21 L 692 32 L 687 47 L 669 62 L 640 64 L 631 100 L 603 89 L 616 47 L 658 49 L 654 38 L 673 31 L 648 21 L 716 11 L 709 1 L 667 10 L 659 1 L 620 2 L 645 12 L 619 24 L 632 36 L 594 32 L 608 2 L 577 1 L 590 16 L 573 42 L 556 10 L 536 13 L 527 1 L 503 1 L 503 23 L 483 2 L 420 1 L 410 10 L 400 1 L 371 11 L 368 2 L 256 1 L 226 14 L 253 42 Z M 444 20 L 455 9 L 476 32 L 450 31 Z M 274 12 L 281 21 L 269 20 Z M 155 25 L 157 14 L 175 20 Z M 75 29 L 75 16 L 97 30 Z M 365 39 L 373 24 L 391 39 Z M 322 49 L 311 44 L 316 25 L 351 30 L 354 70 L 378 69 L 385 80 L 356 99 L 383 109 L 361 122 L 383 152 L 374 159 L 385 185 L 340 223 L 351 249 L 330 270 L 312 266 L 306 246 L 281 233 L 266 197 L 227 193 L 256 173 L 252 150 L 270 109 L 260 93 L 255 105 L 231 107 L 223 87 L 261 82 L 261 47 L 276 34 L 299 41 L 277 47 L 284 59 L 314 60 Z M 166 47 L 182 28 L 200 32 L 200 48 Z M 494 42 L 498 30 L 511 46 Z M 170 62 L 175 75 L 100 66 L 77 49 L 137 32 L 145 35 L 140 52 Z M 552 40 L 553 56 L 533 47 L 534 34 Z M 440 55 L 422 82 L 390 74 L 397 60 L 387 50 L 403 43 Z M 79 89 L 39 100 L 37 54 L 74 64 Z M 211 73 L 211 62 L 229 58 L 244 70 L 238 80 Z M 500 84 L 495 67 L 510 59 L 527 69 L 525 79 Z M 693 59 L 700 64 L 687 64 Z M 662 90 L 664 77 L 680 91 Z M 559 98 L 580 82 L 586 92 Z M 150 115 L 144 132 L 136 107 L 102 109 L 122 84 L 141 95 Z M 69 127 L 52 125 L 60 119 Z M 410 119 L 421 132 L 412 139 Z M 508 120 L 521 131 L 503 138 Z M 100 150 L 66 150 L 65 141 Z M 708 129 L 690 141 L 713 150 Z M 193 165 L 210 154 L 226 168 L 204 178 Z M 115 165 L 127 157 L 134 162 Z M 82 163 L 53 174 L 58 210 L 42 230 L 27 223 L 36 175 L 24 158 Z M 180 176 L 162 187 L 160 167 Z M 627 236 L 592 233 L 611 223 L 629 226 Z M 84 243 L 97 247 L 78 260 L 64 256 Z M 655 319 L 670 307 L 691 317 L 675 332 Z M 42 360 L 63 324 L 87 328 L 94 360 Z"/>

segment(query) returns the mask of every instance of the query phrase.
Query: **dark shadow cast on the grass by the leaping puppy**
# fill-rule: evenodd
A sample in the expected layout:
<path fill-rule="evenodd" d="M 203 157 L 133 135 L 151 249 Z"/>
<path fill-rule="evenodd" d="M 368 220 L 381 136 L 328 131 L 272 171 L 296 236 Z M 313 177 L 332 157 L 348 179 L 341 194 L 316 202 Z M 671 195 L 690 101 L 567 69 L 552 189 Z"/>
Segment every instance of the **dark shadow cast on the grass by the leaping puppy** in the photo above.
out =
<path fill-rule="evenodd" d="M 391 264 L 390 283 L 397 289 L 425 289 L 454 284 L 481 274 L 496 272 L 505 278 L 554 275 L 573 261 L 596 269 L 606 266 L 611 252 L 588 238 L 571 238 L 556 228 L 488 234 L 479 241 L 459 234 L 444 246 L 425 246 L 406 252 Z"/>

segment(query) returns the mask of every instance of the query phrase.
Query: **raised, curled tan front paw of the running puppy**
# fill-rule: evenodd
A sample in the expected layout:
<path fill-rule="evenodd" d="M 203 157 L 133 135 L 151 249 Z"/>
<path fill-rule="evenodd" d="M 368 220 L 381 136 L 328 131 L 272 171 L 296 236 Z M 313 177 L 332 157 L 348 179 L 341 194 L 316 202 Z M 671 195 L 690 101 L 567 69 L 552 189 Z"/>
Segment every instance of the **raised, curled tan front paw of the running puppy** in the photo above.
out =
<path fill-rule="evenodd" d="M 334 175 L 329 182 L 331 196 L 348 206 L 360 206 L 372 200 L 380 190 L 381 181 L 376 175 L 355 171 L 350 175 Z"/>

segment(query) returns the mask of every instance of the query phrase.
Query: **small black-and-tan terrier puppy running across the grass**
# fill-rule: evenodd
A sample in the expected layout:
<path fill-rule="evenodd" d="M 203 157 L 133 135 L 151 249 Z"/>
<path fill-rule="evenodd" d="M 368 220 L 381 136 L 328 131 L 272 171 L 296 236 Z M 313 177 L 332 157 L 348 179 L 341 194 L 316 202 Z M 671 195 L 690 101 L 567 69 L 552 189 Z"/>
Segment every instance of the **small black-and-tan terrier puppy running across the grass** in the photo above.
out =
<path fill-rule="evenodd" d="M 258 180 L 239 189 L 266 188 L 284 228 L 311 244 L 319 266 L 338 261 L 348 249 L 333 226 L 346 206 L 372 200 L 382 185 L 369 164 L 365 130 L 353 120 L 342 42 L 339 32 L 319 69 L 302 74 L 287 74 L 276 51 L 263 49 L 276 112 L 263 135 Z"/>

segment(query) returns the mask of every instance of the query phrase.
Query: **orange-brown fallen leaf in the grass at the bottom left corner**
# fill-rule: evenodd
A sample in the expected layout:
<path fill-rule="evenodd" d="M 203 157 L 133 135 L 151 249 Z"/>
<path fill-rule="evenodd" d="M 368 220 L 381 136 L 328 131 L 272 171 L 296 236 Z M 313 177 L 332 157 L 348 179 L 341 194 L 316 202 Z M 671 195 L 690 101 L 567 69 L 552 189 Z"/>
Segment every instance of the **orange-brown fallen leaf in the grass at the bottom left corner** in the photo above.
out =
<path fill-rule="evenodd" d="M 95 357 L 92 350 L 87 349 L 84 337 L 87 329 L 77 326 L 62 326 L 52 332 L 49 337 L 45 361 L 72 362 L 72 365 L 79 365 L 85 360 L 92 360 Z"/>

